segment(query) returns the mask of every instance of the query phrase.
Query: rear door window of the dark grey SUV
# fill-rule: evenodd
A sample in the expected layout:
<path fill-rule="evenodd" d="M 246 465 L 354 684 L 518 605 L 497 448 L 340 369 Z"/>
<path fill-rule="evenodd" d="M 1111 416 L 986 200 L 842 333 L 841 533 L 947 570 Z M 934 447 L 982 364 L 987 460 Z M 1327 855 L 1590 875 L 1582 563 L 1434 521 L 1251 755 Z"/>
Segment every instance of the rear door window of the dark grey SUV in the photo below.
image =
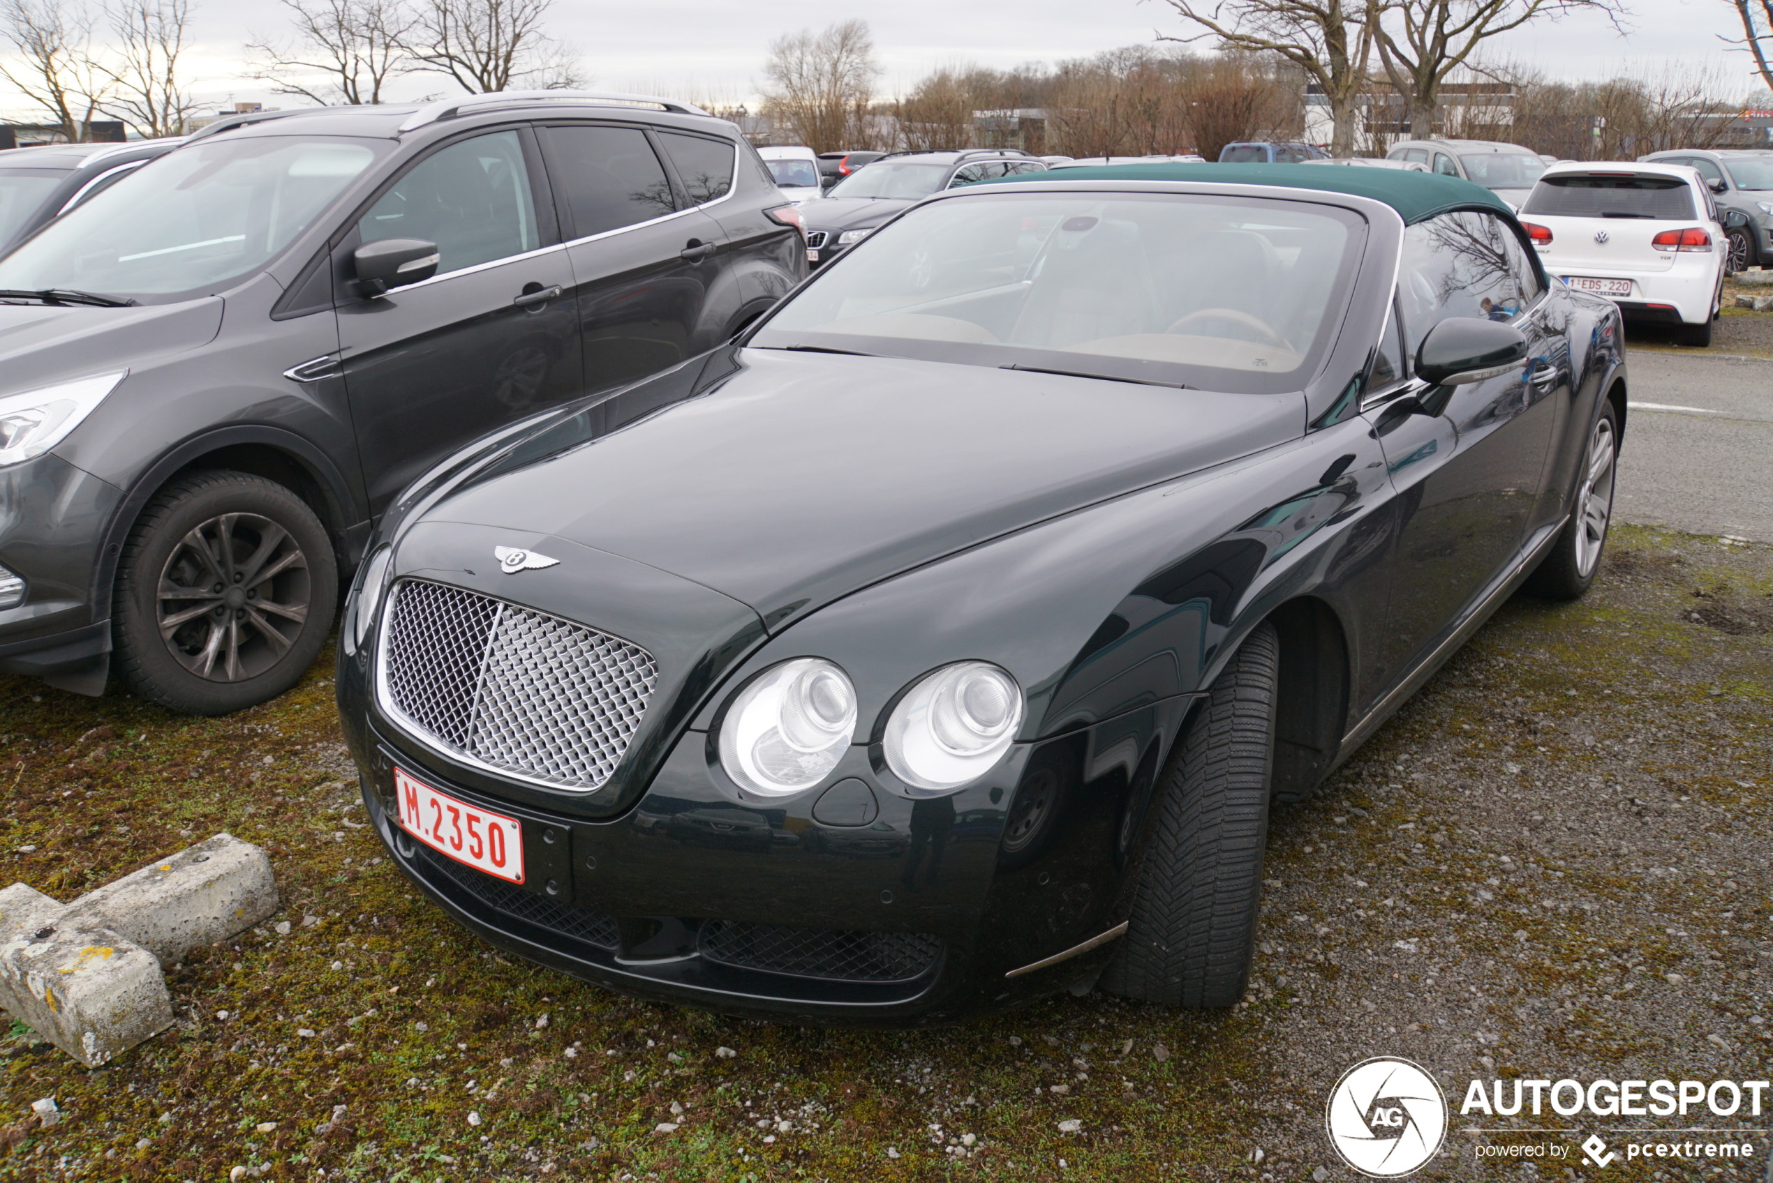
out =
<path fill-rule="evenodd" d="M 548 128 L 548 168 L 573 218 L 573 237 L 621 230 L 677 207 L 658 152 L 640 128 Z"/>

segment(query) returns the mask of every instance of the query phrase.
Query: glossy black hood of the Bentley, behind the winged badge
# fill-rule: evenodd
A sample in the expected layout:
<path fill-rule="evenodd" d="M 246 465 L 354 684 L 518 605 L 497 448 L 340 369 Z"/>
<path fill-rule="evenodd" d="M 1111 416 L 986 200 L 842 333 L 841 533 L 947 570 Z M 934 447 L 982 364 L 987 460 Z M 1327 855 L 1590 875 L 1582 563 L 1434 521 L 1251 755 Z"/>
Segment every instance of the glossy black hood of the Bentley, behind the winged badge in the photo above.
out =
<path fill-rule="evenodd" d="M 775 632 L 897 572 L 1303 430 L 1296 393 L 745 349 L 713 390 L 424 517 L 645 563 Z"/>

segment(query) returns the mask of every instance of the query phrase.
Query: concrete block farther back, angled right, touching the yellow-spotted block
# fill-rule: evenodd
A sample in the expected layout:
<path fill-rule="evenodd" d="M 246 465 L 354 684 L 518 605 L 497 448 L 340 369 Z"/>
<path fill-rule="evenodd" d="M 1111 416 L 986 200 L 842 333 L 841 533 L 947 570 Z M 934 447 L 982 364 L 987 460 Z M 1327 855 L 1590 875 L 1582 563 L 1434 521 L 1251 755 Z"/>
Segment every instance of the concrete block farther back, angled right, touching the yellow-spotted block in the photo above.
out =
<path fill-rule="evenodd" d="M 245 932 L 278 907 L 269 855 L 232 834 L 186 847 L 69 905 L 80 917 L 142 946 L 161 965 Z"/>

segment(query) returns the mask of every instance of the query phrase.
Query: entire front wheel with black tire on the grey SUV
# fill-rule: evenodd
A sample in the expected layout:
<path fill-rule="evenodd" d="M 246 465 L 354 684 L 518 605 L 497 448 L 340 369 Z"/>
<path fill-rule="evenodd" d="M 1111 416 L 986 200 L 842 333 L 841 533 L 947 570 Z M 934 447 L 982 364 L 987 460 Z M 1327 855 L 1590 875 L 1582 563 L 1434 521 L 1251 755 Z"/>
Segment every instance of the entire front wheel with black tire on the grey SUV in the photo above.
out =
<path fill-rule="evenodd" d="M 124 544 L 113 669 L 184 714 L 255 707 L 314 664 L 337 602 L 332 540 L 301 498 L 262 476 L 193 473 L 147 503 Z"/>

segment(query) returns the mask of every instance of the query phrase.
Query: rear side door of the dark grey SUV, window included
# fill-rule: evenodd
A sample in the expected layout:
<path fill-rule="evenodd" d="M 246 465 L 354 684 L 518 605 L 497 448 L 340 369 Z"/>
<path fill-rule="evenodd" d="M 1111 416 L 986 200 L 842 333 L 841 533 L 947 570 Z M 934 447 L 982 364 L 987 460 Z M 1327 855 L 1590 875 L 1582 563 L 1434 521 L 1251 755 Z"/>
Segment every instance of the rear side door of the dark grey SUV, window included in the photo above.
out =
<path fill-rule="evenodd" d="M 645 128 L 558 122 L 543 136 L 567 227 L 585 390 L 612 390 L 690 358 L 707 260 L 725 246 L 725 230 L 686 207 Z"/>

